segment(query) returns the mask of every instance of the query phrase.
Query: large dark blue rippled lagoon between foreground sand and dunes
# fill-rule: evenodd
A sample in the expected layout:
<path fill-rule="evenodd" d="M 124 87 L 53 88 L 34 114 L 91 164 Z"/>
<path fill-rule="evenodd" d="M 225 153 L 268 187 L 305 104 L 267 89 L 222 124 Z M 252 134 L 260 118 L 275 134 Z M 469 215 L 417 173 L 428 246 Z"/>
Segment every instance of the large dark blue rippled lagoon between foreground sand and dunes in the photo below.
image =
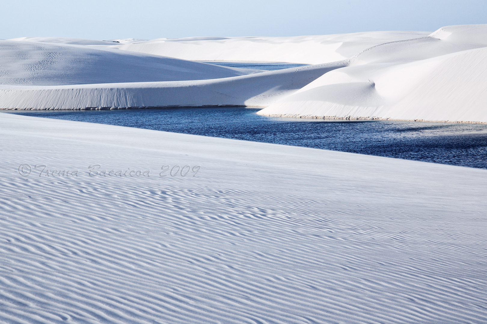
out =
<path fill-rule="evenodd" d="M 487 125 L 271 118 L 249 108 L 16 111 L 15 114 L 237 138 L 487 169 Z"/>

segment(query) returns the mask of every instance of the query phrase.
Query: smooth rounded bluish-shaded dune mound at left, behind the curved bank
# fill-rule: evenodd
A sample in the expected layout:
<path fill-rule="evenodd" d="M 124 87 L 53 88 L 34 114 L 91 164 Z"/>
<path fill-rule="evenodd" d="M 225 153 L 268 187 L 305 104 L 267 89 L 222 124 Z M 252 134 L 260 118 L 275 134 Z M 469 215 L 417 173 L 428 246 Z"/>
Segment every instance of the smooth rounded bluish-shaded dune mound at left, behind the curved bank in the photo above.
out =
<path fill-rule="evenodd" d="M 0 58 L 3 85 L 204 80 L 255 72 L 127 51 L 3 40 Z"/>

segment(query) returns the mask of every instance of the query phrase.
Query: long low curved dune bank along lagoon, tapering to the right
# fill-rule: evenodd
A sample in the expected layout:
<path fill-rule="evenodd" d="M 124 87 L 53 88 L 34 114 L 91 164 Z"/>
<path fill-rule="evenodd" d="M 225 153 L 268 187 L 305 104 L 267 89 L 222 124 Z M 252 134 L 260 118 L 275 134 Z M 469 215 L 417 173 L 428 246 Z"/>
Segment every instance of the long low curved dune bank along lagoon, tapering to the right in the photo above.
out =
<path fill-rule="evenodd" d="M 97 85 L 0 85 L 0 109 L 73 110 L 138 107 L 265 107 L 324 73 L 346 66 L 322 64 L 231 78 Z"/>

